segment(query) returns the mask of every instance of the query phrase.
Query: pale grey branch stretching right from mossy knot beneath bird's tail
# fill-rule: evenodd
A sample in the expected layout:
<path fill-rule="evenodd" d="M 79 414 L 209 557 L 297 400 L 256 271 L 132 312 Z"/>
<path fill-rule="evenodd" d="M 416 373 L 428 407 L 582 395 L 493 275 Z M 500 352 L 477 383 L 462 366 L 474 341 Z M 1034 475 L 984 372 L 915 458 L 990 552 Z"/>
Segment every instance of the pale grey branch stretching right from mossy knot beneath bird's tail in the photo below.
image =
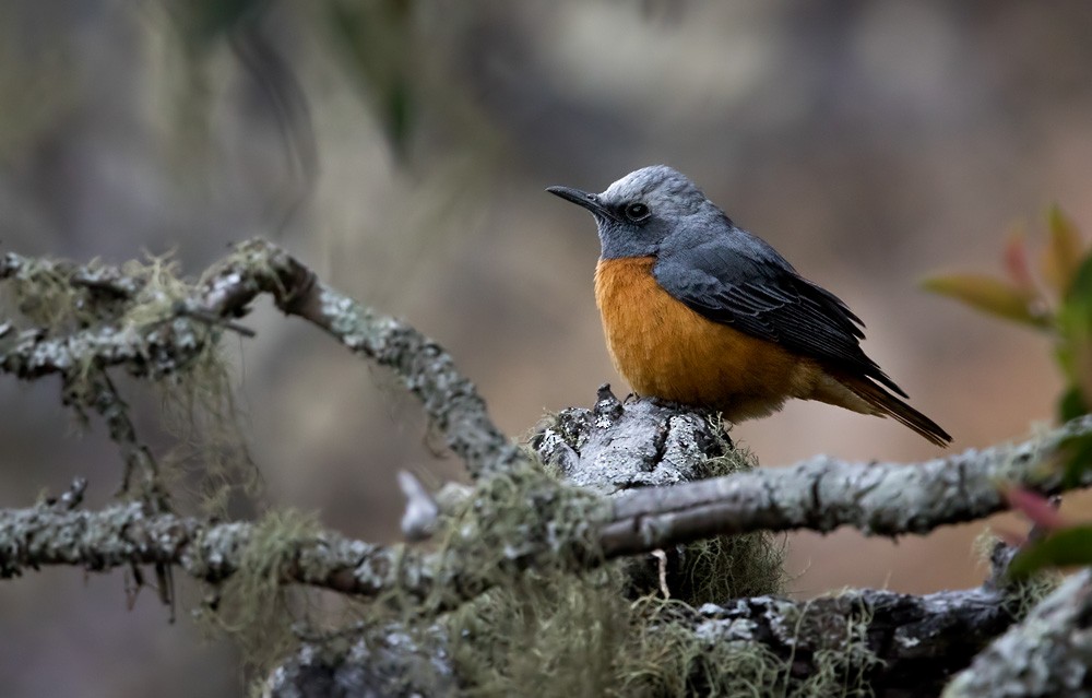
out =
<path fill-rule="evenodd" d="M 923 534 L 1007 509 L 1005 485 L 1061 492 L 1060 469 L 1045 461 L 1065 439 L 1089 433 L 1092 417 L 1085 416 L 1016 446 L 925 463 L 848 463 L 823 456 L 788 468 L 633 489 L 613 498 L 600 542 L 609 557 L 748 531 L 851 525 L 870 535 Z M 1092 471 L 1084 471 L 1075 487 L 1089 485 Z"/>

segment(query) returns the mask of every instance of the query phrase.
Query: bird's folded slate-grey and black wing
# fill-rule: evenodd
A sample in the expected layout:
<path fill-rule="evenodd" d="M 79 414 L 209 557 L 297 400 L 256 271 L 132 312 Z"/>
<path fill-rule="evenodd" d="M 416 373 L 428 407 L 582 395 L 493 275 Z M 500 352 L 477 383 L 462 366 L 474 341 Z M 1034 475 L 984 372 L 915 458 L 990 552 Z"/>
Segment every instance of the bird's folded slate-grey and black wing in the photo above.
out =
<path fill-rule="evenodd" d="M 906 397 L 860 350 L 860 319 L 748 233 L 735 228 L 661 256 L 653 273 L 667 293 L 710 320 L 867 376 Z"/>

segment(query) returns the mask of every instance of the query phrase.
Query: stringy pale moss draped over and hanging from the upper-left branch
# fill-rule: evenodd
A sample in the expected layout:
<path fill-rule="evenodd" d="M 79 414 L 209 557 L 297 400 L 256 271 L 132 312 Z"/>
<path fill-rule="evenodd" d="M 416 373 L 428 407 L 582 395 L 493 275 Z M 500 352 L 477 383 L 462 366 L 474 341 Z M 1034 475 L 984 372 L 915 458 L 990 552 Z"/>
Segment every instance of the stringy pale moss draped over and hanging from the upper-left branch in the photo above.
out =
<path fill-rule="evenodd" d="M 257 494 L 258 470 L 239 426 L 228 362 L 221 354 L 223 330 L 186 317 L 179 304 L 194 295 L 195 286 L 179 276 L 170 255 L 120 268 L 97 260 L 78 265 L 16 256 L 5 263 L 12 271 L 4 292 L 22 320 L 46 336 L 72 338 L 58 345 L 64 355 L 57 365 L 64 374 L 66 399 L 82 421 L 90 407 L 102 409 L 104 346 L 117 343 L 135 351 L 139 360 L 127 368 L 154 381 L 164 424 L 177 439 L 157 459 L 153 488 L 177 493 L 186 466 L 195 463 L 198 499 L 206 513 L 223 514 L 240 488 Z M 118 406 L 124 409 L 123 403 Z M 139 445 L 121 445 L 132 446 Z"/>

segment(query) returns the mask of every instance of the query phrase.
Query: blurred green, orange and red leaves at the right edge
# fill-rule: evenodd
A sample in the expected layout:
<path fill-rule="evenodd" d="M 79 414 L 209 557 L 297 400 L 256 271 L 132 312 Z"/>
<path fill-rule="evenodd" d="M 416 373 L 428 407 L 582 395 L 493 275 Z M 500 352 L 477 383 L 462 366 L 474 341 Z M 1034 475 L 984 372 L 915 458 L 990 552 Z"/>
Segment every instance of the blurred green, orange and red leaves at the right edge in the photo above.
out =
<path fill-rule="evenodd" d="M 1004 277 L 947 274 L 926 279 L 923 285 L 1049 335 L 1066 381 L 1057 414 L 1067 422 L 1092 412 L 1092 251 L 1058 206 L 1047 213 L 1046 233 L 1038 275 L 1025 236 L 1018 230 L 1005 246 Z M 1066 484 L 1075 485 L 1092 469 L 1092 436 L 1065 441 L 1049 466 L 1063 469 Z M 1037 533 L 1031 542 L 1018 541 L 1023 548 L 1012 560 L 1013 577 L 1048 567 L 1092 564 L 1092 524 L 1061 520 L 1055 502 L 1035 493 L 1013 488 L 1006 494 L 1010 506 L 1034 522 Z"/>

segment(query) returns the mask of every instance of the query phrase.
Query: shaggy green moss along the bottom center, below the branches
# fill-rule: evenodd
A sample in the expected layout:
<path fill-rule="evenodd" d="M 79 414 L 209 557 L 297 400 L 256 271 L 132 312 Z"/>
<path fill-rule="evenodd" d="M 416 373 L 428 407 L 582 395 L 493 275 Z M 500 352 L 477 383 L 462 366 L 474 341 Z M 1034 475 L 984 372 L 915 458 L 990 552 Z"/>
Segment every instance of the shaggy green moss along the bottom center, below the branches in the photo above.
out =
<path fill-rule="evenodd" d="M 864 610 L 845 618 L 841 634 L 822 635 L 826 644 L 811 656 L 817 671 L 799 679 L 791 677 L 793 658 L 775 654 L 748 628 L 705 632 L 682 602 L 621 601 L 625 584 L 616 566 L 581 577 L 536 573 L 451 614 L 448 647 L 463 693 L 489 698 L 873 695 L 869 676 L 881 661 L 868 648 L 870 618 Z"/>

